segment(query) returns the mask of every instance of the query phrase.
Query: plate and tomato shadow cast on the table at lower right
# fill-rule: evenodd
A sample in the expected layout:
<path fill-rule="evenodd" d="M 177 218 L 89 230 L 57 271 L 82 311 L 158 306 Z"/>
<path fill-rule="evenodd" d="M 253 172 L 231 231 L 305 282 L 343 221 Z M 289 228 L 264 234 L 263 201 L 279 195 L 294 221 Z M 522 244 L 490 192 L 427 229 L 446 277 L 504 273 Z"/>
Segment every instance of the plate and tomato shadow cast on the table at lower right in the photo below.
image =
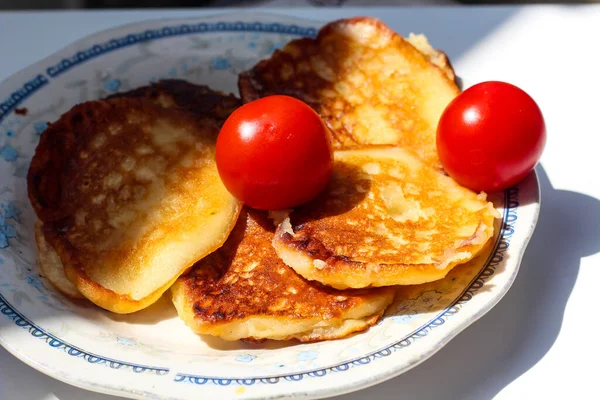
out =
<path fill-rule="evenodd" d="M 447 400 L 492 399 L 550 350 L 581 258 L 600 251 L 600 201 L 556 190 L 541 166 L 537 172 L 540 218 L 508 294 L 435 356 L 381 384 L 376 389 L 379 399 L 397 399 L 399 393 L 403 400 L 433 399 L 440 393 Z"/>

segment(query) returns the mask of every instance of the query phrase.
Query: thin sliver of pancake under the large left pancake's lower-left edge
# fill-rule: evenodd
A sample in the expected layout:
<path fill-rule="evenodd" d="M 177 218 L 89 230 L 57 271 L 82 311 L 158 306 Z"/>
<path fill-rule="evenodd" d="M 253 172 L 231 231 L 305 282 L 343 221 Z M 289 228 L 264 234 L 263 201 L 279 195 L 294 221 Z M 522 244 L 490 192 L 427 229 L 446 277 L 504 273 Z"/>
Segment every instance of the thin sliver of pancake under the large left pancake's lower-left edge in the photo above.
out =
<path fill-rule="evenodd" d="M 46 279 L 48 279 L 48 281 L 50 281 L 50 283 L 65 296 L 74 299 L 84 299 L 85 297 L 79 293 L 77 287 L 75 287 L 75 285 L 73 285 L 73 283 L 67 279 L 64 267 L 60 261 L 60 258 L 58 257 L 58 254 L 56 254 L 54 248 L 50 246 L 44 238 L 42 225 L 43 224 L 40 220 L 35 221 L 34 231 L 35 241 L 38 248 L 38 264 L 42 274 L 44 274 Z"/>

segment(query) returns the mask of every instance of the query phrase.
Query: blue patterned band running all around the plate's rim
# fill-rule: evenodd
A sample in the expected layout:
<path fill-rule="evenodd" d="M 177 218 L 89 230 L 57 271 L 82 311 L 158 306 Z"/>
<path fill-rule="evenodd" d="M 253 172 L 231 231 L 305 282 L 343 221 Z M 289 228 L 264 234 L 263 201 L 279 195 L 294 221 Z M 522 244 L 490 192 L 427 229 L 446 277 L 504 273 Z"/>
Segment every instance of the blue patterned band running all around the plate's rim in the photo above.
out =
<path fill-rule="evenodd" d="M 48 78 L 44 74 L 38 74 L 35 78 L 25 83 L 20 89 L 12 93 L 4 102 L 0 103 L 0 122 L 10 114 L 19 104 L 39 91 L 40 88 L 47 85 L 50 79 L 59 76 L 69 69 L 82 64 L 99 55 L 131 46 L 141 42 L 147 42 L 156 39 L 168 38 L 173 36 L 181 36 L 187 34 L 199 34 L 207 32 L 266 32 L 266 33 L 282 33 L 300 36 L 315 36 L 315 28 L 299 27 L 296 25 L 282 25 L 278 23 L 261 23 L 261 22 L 215 22 L 215 23 L 199 23 L 199 24 L 182 24 L 178 26 L 163 27 L 159 29 L 146 30 L 137 34 L 129 34 L 117 39 L 109 40 L 102 44 L 91 46 L 90 48 L 77 52 L 71 58 L 64 58 L 59 63 L 46 69 L 46 73 L 51 77 Z M 500 235 L 496 239 L 494 251 L 485 263 L 480 273 L 475 277 L 471 284 L 459 296 L 454 303 L 441 312 L 436 318 L 422 325 L 417 330 L 407 335 L 402 340 L 388 346 L 382 350 L 375 351 L 364 357 L 360 357 L 342 364 L 329 366 L 321 369 L 303 371 L 296 374 L 264 376 L 251 378 L 221 378 L 210 376 L 199 376 L 191 374 L 177 373 L 174 382 L 186 382 L 196 385 L 215 384 L 220 386 L 228 385 L 243 385 L 251 386 L 254 384 L 276 384 L 281 380 L 300 381 L 305 377 L 323 377 L 333 372 L 343 372 L 355 366 L 369 364 L 376 359 L 387 357 L 393 352 L 408 347 L 427 334 L 434 328 L 443 325 L 448 317 L 457 314 L 460 311 L 461 305 L 471 300 L 473 295 L 481 289 L 485 281 L 495 273 L 496 267 L 504 259 L 504 253 L 508 249 L 510 238 L 514 233 L 514 222 L 517 220 L 518 189 L 508 189 L 504 193 L 505 210 L 503 216 L 503 226 Z M 83 358 L 89 363 L 104 365 L 112 369 L 130 370 L 136 373 L 154 373 L 158 376 L 164 376 L 169 373 L 169 368 L 161 368 L 147 366 L 141 364 L 133 364 L 124 361 L 119 361 L 98 354 L 86 352 L 76 346 L 73 346 L 65 341 L 60 340 L 51 333 L 45 331 L 35 325 L 24 315 L 18 312 L 5 298 L 0 294 L 0 312 L 7 318 L 11 319 L 17 326 L 26 329 L 36 338 L 42 339 L 53 348 L 63 350 L 70 356 Z"/>

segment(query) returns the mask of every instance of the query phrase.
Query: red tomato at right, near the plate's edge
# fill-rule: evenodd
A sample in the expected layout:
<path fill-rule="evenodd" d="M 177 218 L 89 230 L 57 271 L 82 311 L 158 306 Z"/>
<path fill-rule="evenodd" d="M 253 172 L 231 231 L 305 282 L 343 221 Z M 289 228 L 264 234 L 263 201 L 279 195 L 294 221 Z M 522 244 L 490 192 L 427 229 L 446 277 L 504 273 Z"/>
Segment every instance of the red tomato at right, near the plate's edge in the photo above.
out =
<path fill-rule="evenodd" d="M 437 129 L 444 169 L 461 185 L 494 191 L 521 181 L 546 144 L 542 112 L 518 87 L 483 82 L 456 97 Z"/>

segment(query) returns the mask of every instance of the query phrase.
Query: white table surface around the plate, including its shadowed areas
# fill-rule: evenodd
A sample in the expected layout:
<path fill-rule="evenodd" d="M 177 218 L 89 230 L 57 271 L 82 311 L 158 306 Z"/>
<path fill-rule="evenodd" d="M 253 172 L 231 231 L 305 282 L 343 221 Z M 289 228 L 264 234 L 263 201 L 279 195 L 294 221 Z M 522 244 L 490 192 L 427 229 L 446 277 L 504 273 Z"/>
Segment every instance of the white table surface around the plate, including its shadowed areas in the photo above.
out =
<path fill-rule="evenodd" d="M 600 7 L 275 9 L 382 18 L 425 32 L 470 81 L 528 91 L 546 118 L 542 211 L 516 282 L 487 315 L 413 370 L 345 399 L 600 398 Z M 119 24 L 218 10 L 0 13 L 0 80 Z M 515 143 L 515 145 L 518 145 Z M 49 378 L 0 347 L 0 399 L 111 400 Z"/>

